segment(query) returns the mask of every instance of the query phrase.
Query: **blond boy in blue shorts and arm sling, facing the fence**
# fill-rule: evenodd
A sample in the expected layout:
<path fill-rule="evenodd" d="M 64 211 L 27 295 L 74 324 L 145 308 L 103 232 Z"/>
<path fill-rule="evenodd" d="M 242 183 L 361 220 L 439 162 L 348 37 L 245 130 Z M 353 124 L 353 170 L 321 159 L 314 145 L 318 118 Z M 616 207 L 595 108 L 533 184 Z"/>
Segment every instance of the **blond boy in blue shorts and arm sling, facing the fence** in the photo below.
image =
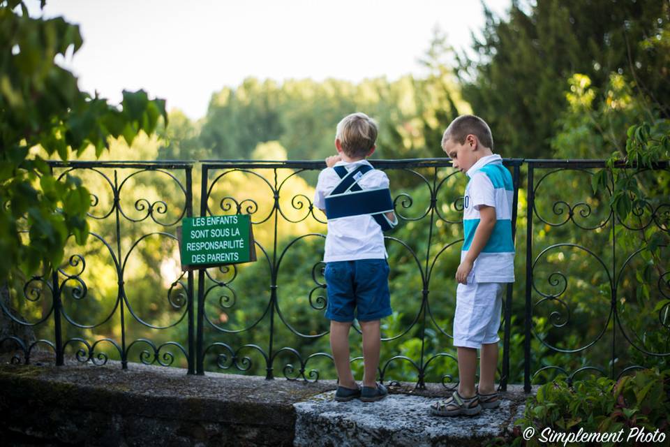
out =
<path fill-rule="evenodd" d="M 366 160 L 375 152 L 377 124 L 364 113 L 348 115 L 337 125 L 335 147 L 338 154 L 326 159 L 316 186 L 314 205 L 326 210 L 328 233 L 324 262 L 328 305 L 326 318 L 330 323 L 330 344 L 338 375 L 335 399 L 348 401 L 359 398 L 364 402 L 381 400 L 386 388 L 376 383 L 380 353 L 380 318 L 392 314 L 389 295 L 389 265 L 384 246 L 382 226 L 394 222 L 392 211 L 333 217 L 327 200 L 335 195 L 346 200 L 359 200 L 358 192 L 383 192 L 388 189 L 385 173 L 372 168 Z M 353 187 L 345 193 L 334 194 L 341 182 L 350 178 Z M 360 203 L 349 203 L 351 208 Z M 346 211 L 346 210 L 345 210 Z M 377 209 L 376 211 L 380 211 Z M 331 214 L 328 214 L 328 213 Z M 332 218 L 333 217 L 333 218 Z M 349 357 L 349 330 L 357 318 L 363 333 L 364 377 L 360 388 L 352 376 Z"/>

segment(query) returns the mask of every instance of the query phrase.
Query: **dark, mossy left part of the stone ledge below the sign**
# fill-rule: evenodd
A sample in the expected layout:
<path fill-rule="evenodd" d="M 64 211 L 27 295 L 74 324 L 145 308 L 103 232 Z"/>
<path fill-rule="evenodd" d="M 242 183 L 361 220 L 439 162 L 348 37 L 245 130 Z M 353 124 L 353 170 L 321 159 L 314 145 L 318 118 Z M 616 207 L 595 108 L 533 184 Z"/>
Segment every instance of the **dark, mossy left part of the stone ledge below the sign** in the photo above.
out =
<path fill-rule="evenodd" d="M 292 444 L 292 404 L 333 390 L 333 381 L 263 377 L 129 364 L 0 366 L 0 433 L 38 444 Z"/>

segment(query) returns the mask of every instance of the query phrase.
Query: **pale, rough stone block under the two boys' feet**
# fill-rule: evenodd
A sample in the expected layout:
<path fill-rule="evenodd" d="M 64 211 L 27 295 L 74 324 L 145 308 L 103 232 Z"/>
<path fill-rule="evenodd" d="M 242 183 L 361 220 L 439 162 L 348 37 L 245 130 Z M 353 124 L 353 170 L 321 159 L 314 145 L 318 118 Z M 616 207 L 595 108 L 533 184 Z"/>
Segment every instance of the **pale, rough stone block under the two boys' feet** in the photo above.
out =
<path fill-rule="evenodd" d="M 498 409 L 477 416 L 432 416 L 435 397 L 389 395 L 380 402 L 335 402 L 334 392 L 294 404 L 297 411 L 295 446 L 479 446 L 500 436 L 523 414 L 513 386 Z M 512 398 L 510 399 L 510 396 Z"/>

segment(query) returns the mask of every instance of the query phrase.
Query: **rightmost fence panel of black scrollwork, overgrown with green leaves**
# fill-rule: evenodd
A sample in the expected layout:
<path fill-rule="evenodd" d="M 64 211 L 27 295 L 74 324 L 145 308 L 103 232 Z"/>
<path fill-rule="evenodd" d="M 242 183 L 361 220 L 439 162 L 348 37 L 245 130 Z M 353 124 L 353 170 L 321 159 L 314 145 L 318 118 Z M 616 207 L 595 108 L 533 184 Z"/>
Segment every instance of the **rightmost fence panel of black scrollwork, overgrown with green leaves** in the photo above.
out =
<path fill-rule="evenodd" d="M 526 165 L 526 390 L 548 372 L 617 378 L 670 356 L 669 257 L 652 242 L 670 230 L 668 163 L 632 174 L 661 195 L 634 202 L 623 221 L 613 179 L 592 189 L 604 161 Z"/>

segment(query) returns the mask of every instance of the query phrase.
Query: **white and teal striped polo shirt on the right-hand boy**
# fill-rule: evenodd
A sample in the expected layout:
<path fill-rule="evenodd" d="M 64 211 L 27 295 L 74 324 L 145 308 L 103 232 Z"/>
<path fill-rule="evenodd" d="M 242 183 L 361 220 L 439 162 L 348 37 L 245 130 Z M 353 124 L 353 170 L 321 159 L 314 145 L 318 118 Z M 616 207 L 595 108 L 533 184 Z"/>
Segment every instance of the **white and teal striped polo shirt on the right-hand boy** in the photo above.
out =
<path fill-rule="evenodd" d="M 500 155 L 484 156 L 468 169 L 470 182 L 463 197 L 463 251 L 468 254 L 479 224 L 479 206 L 496 207 L 496 226 L 489 242 L 472 268 L 475 282 L 514 282 L 514 240 L 512 240 L 512 175 L 502 166 Z M 470 282 L 471 276 L 468 278 Z"/>

